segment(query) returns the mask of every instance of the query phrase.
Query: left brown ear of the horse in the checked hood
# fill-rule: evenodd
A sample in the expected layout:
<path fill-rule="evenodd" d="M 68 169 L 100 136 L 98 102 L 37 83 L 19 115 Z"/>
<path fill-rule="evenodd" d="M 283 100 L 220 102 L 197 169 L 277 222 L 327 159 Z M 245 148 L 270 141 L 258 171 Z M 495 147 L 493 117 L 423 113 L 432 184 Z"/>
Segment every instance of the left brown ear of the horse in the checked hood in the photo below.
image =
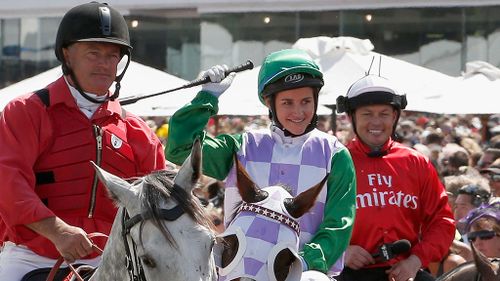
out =
<path fill-rule="evenodd" d="M 267 192 L 260 189 L 250 178 L 247 171 L 241 164 L 236 153 L 234 154 L 234 164 L 236 165 L 236 185 L 240 192 L 241 199 L 247 203 L 255 203 L 267 198 Z"/>

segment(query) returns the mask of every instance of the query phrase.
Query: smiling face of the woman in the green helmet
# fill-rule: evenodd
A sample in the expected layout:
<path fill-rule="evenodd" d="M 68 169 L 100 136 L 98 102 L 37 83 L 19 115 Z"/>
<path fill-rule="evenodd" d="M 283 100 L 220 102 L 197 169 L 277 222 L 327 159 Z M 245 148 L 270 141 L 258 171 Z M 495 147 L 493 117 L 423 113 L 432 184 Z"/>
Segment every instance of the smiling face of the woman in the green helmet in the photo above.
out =
<path fill-rule="evenodd" d="M 269 99 L 267 100 L 269 107 Z M 276 93 L 276 117 L 294 135 L 301 135 L 314 116 L 314 94 L 311 87 L 302 87 Z"/>

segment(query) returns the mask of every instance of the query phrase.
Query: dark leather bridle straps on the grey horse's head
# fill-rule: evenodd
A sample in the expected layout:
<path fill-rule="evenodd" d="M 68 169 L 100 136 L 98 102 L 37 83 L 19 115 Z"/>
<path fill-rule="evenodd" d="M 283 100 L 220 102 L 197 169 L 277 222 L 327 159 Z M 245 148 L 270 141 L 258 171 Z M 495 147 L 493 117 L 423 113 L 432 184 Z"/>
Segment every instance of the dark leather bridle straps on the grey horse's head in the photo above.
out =
<path fill-rule="evenodd" d="M 180 186 L 174 184 L 174 188 L 181 188 Z M 160 209 L 160 218 L 166 221 L 175 221 L 180 216 L 184 214 L 182 207 L 177 204 L 172 209 Z M 145 213 L 137 214 L 130 217 L 128 211 L 125 207 L 122 210 L 122 239 L 125 244 L 125 265 L 127 266 L 127 272 L 131 281 L 146 281 L 146 276 L 144 275 L 144 268 L 140 258 L 137 256 L 137 245 L 133 239 L 130 239 L 132 243 L 132 249 L 129 247 L 128 236 L 130 235 L 130 230 L 136 224 L 142 221 L 151 219 L 151 215 Z"/>

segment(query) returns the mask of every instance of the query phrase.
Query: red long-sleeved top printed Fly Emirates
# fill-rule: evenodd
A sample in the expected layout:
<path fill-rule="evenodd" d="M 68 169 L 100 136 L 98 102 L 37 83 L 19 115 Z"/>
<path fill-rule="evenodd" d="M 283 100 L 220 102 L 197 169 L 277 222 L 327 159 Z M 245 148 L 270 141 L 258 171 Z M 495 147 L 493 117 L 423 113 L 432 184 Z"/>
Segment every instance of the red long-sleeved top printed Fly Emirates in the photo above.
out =
<path fill-rule="evenodd" d="M 347 146 L 356 168 L 356 219 L 351 245 L 376 253 L 383 243 L 410 241 L 411 254 L 422 267 L 439 261 L 448 252 L 455 235 L 453 214 L 445 189 L 429 159 L 419 152 L 389 140 L 382 157 L 354 139 Z M 402 255 L 388 266 L 406 258 Z"/>

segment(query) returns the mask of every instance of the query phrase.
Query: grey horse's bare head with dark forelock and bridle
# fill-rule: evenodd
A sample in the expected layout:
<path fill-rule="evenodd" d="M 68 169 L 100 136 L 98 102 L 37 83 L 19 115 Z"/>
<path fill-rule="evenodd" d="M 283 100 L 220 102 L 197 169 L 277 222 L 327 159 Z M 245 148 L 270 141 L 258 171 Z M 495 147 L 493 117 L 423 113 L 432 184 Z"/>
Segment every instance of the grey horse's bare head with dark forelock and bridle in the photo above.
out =
<path fill-rule="evenodd" d="M 191 192 L 201 175 L 199 141 L 177 173 L 158 171 L 129 183 L 96 170 L 120 207 L 102 265 L 126 273 L 123 279 L 103 275 L 99 280 L 127 280 L 125 257 L 133 265 L 129 273 L 139 280 L 216 280 L 210 220 Z"/>

